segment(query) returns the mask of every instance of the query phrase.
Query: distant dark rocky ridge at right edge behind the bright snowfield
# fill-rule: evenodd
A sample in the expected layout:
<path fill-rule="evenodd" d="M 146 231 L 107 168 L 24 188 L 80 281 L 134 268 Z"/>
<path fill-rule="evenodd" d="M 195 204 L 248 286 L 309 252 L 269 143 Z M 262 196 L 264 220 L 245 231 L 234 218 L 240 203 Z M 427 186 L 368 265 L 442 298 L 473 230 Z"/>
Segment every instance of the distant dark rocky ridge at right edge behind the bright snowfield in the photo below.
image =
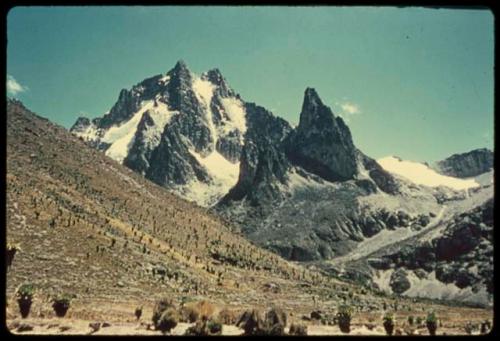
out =
<path fill-rule="evenodd" d="M 436 168 L 442 174 L 458 178 L 477 176 L 493 168 L 493 152 L 482 148 L 468 153 L 454 154 L 437 162 Z"/>

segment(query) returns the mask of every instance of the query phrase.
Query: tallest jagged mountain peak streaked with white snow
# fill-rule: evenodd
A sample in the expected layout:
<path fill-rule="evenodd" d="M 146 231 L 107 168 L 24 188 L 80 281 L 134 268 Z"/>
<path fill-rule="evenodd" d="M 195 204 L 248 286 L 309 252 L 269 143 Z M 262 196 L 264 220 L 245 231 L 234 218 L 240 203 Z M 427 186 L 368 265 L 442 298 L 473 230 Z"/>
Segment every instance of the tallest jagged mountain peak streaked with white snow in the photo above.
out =
<path fill-rule="evenodd" d="M 218 69 L 201 76 L 179 61 L 123 89 L 103 117 L 79 118 L 76 136 L 149 180 L 210 206 L 236 183 L 245 107 Z"/>

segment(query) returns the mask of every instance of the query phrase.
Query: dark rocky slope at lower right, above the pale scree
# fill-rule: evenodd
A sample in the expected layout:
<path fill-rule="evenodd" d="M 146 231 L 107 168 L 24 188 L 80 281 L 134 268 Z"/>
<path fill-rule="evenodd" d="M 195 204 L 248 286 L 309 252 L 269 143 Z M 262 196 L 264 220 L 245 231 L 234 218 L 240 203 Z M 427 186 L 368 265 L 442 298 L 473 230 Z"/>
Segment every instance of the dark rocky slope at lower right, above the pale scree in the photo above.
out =
<path fill-rule="evenodd" d="M 375 269 L 405 268 L 420 274 L 435 271 L 436 279 L 445 284 L 453 283 L 460 289 L 471 287 L 474 292 L 483 286 L 493 294 L 492 260 L 493 200 L 490 199 L 457 214 L 443 233 L 432 240 L 405 245 L 396 253 L 370 260 L 369 264 Z M 396 272 L 393 276 L 399 280 L 402 276 Z"/>

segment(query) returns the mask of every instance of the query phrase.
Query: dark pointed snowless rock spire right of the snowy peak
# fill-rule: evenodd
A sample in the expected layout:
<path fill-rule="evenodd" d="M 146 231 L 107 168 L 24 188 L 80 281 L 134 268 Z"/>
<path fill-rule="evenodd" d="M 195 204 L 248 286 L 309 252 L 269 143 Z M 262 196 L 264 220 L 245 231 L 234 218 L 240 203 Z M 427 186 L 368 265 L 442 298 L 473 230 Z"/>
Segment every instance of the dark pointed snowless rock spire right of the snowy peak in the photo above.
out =
<path fill-rule="evenodd" d="M 358 171 L 349 128 L 312 88 L 305 91 L 300 122 L 288 138 L 286 153 L 294 164 L 328 181 L 353 179 Z"/>

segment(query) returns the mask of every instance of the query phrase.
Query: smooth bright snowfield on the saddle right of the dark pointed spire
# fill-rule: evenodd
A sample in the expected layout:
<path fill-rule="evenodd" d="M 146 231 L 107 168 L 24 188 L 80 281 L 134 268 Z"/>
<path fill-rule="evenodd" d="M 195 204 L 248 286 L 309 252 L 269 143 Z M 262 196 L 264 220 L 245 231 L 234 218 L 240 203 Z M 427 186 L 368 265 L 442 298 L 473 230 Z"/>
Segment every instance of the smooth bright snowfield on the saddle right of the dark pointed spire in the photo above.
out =
<path fill-rule="evenodd" d="M 459 179 L 437 173 L 428 166 L 412 161 L 404 161 L 394 156 L 377 160 L 386 171 L 404 177 L 416 184 L 438 187 L 446 186 L 455 190 L 465 190 L 478 187 L 474 179 Z"/>

